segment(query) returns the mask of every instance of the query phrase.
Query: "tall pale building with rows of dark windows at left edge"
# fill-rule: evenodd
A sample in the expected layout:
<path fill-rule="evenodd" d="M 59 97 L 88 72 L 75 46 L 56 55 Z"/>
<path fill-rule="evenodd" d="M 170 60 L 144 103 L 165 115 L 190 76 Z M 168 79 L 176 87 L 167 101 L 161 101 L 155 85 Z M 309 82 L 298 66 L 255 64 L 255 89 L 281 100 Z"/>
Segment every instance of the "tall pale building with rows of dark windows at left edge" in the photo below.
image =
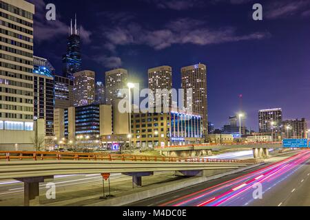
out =
<path fill-rule="evenodd" d="M 3 150 L 14 148 L 14 143 L 31 146 L 34 137 L 34 5 L 23 0 L 1 0 L 0 8 L 0 147 Z"/>

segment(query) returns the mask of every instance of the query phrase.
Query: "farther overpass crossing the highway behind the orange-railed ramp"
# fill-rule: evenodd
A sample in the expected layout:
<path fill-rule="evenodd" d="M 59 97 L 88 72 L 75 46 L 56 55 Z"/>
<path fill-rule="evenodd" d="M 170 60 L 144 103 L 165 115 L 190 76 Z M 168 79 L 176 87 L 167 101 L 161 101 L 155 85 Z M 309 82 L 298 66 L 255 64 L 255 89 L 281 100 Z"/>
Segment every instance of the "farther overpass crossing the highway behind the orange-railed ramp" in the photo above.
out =
<path fill-rule="evenodd" d="M 254 158 L 268 157 L 269 148 L 283 148 L 282 142 L 251 142 L 251 143 L 227 143 L 227 144 L 194 144 L 184 146 L 163 146 L 156 147 L 161 155 L 168 157 L 200 157 L 211 155 L 212 150 L 233 149 L 233 148 L 251 148 Z"/>

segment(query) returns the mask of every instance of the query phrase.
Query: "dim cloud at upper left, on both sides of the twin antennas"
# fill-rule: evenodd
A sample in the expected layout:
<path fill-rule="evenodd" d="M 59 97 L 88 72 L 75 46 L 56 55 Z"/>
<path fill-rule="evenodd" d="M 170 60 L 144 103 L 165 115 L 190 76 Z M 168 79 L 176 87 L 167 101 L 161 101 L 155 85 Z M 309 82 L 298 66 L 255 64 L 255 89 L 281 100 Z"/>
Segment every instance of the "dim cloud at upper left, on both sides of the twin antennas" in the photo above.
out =
<path fill-rule="evenodd" d="M 45 10 L 46 3 L 43 0 L 29 1 L 35 5 L 36 12 L 34 14 L 34 41 L 41 43 L 68 35 L 69 26 L 60 20 L 61 16 L 59 14 L 56 14 L 56 21 L 48 21 L 45 19 L 47 10 Z M 90 43 L 90 35 L 92 33 L 85 30 L 83 26 L 80 27 L 80 33 L 83 43 Z"/>

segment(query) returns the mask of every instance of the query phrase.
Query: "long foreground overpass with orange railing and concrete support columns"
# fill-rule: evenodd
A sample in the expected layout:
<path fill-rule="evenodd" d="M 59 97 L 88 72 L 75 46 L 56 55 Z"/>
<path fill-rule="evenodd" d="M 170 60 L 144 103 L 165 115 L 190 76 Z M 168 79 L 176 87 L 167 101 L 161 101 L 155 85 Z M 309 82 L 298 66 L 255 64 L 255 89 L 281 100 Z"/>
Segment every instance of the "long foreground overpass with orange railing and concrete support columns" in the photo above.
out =
<path fill-rule="evenodd" d="M 262 160 L 205 159 L 192 157 L 155 157 L 144 155 L 107 155 L 101 153 L 0 152 L 0 179 L 24 183 L 24 204 L 39 199 L 39 183 L 52 181 L 54 175 L 110 173 L 132 176 L 133 187 L 142 186 L 142 177 L 156 171 L 175 171 L 187 176 L 214 175 L 242 168 Z"/>

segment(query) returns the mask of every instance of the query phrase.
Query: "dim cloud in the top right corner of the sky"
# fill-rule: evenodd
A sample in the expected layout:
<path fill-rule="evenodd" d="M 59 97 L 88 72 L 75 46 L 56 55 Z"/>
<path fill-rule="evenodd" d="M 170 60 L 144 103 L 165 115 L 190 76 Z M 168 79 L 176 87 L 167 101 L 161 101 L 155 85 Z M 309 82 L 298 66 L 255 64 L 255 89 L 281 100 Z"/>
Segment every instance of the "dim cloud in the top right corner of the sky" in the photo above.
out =
<path fill-rule="evenodd" d="M 305 10 L 309 10 L 310 1 L 274 1 L 267 6 L 267 19 L 278 19 L 289 17 L 295 14 L 302 14 Z"/>

